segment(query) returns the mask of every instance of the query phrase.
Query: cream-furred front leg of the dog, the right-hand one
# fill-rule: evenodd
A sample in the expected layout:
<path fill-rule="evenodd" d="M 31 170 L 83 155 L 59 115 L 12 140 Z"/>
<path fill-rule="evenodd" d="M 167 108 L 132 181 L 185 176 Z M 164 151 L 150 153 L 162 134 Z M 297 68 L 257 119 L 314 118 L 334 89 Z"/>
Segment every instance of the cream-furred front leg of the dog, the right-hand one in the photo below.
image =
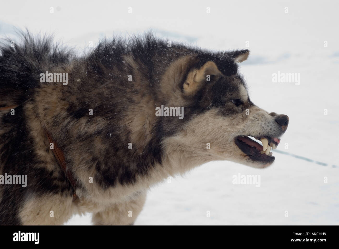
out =
<path fill-rule="evenodd" d="M 116 203 L 94 213 L 92 222 L 94 225 L 134 225 L 135 219 L 145 204 L 145 200 L 146 191 L 129 201 Z"/>

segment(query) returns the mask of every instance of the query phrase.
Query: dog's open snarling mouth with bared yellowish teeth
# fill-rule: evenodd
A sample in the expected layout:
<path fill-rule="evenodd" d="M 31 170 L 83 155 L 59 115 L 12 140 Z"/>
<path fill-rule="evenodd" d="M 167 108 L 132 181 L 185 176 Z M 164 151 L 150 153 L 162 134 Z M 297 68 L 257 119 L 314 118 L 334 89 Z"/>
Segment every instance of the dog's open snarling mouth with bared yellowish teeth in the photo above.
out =
<path fill-rule="evenodd" d="M 259 140 L 262 145 L 259 143 Z M 271 149 L 276 149 L 279 143 L 279 138 L 269 136 L 263 136 L 261 138 L 239 136 L 235 138 L 235 144 L 243 153 L 254 161 L 263 163 L 272 163 L 274 161 L 275 157 L 272 156 Z"/>

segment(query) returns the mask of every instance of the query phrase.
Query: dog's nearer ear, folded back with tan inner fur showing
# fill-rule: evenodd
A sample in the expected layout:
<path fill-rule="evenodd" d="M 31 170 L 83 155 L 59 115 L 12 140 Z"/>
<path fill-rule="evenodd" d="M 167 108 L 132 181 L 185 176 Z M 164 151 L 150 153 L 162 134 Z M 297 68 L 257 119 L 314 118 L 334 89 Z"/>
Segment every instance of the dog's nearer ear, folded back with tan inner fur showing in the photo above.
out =
<path fill-rule="evenodd" d="M 204 84 L 210 83 L 218 79 L 222 73 L 213 61 L 207 61 L 199 69 L 191 70 L 183 84 L 185 95 L 194 95 Z"/>

